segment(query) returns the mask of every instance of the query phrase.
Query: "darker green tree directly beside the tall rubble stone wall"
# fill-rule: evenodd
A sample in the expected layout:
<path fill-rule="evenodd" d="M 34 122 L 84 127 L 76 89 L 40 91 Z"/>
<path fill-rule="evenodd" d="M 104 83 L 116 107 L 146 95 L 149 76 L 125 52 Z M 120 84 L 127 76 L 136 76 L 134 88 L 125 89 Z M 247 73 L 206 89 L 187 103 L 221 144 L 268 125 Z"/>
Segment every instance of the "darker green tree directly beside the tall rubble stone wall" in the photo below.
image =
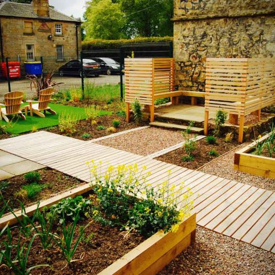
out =
<path fill-rule="evenodd" d="M 120 0 L 128 37 L 172 35 L 173 0 Z"/>

